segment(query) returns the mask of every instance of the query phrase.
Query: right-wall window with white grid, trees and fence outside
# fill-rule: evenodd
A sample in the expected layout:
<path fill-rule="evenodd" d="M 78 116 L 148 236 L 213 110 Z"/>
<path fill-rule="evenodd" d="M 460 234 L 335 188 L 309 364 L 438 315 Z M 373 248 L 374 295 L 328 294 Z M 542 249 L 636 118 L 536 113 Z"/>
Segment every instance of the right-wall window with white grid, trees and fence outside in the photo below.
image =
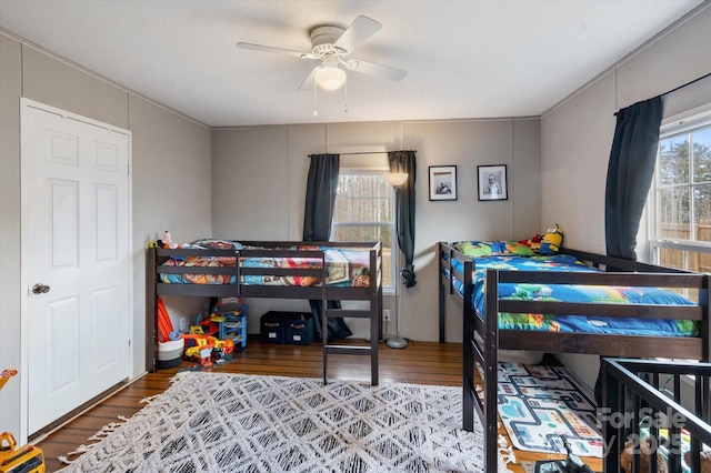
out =
<path fill-rule="evenodd" d="M 652 262 L 711 272 L 711 112 L 662 127 L 652 195 Z"/>

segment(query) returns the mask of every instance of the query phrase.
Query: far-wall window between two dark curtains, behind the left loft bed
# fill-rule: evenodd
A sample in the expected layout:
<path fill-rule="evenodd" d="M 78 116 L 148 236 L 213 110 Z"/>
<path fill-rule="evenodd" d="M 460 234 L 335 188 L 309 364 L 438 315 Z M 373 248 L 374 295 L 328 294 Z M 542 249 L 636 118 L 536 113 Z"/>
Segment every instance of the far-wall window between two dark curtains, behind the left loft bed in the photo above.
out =
<path fill-rule="evenodd" d="M 394 192 L 382 172 L 341 170 L 331 240 L 382 242 L 383 290 L 393 290 L 397 280 L 394 235 Z"/>

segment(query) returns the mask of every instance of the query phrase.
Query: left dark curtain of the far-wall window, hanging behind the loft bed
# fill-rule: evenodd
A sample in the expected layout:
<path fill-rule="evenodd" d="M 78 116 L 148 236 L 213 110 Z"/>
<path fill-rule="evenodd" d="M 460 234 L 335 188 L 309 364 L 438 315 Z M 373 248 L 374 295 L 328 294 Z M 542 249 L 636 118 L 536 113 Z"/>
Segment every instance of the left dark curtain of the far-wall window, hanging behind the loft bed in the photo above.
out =
<path fill-rule="evenodd" d="M 303 214 L 303 241 L 329 241 L 331 220 L 338 189 L 339 154 L 311 154 L 307 202 Z M 339 301 L 328 301 L 329 309 L 340 309 Z M 321 330 L 322 301 L 309 301 L 316 329 L 316 339 L 323 340 Z M 329 319 L 328 339 L 346 339 L 352 335 L 342 318 Z"/>

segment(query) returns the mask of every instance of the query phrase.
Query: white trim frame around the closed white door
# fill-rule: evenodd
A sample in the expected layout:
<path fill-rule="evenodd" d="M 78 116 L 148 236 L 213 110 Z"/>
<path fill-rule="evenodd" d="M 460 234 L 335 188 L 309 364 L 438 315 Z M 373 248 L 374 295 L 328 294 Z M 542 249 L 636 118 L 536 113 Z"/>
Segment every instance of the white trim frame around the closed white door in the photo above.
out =
<path fill-rule="evenodd" d="M 27 137 L 22 135 L 22 130 L 27 129 L 27 120 L 28 120 L 28 109 L 34 108 L 39 110 L 43 110 L 50 113 L 58 114 L 60 117 L 71 118 L 77 121 L 81 121 L 88 124 L 92 124 L 99 128 L 104 128 L 109 131 L 114 131 L 118 133 L 122 133 L 128 135 L 129 147 L 128 147 L 128 163 L 129 163 L 129 179 L 128 179 L 128 251 L 130 258 L 128 259 L 129 264 L 129 308 L 133 308 L 133 193 L 132 193 L 132 179 L 131 179 L 131 170 L 132 170 L 132 135 L 129 130 L 121 129 L 119 127 L 114 127 L 112 124 L 103 123 L 97 120 L 89 119 L 87 117 L 82 117 L 76 113 L 68 112 L 66 110 L 58 109 L 56 107 L 51 107 L 41 102 L 37 102 L 24 97 L 20 98 L 20 162 L 22 162 L 22 152 L 23 147 L 22 143 L 27 139 Z M 22 178 L 20 178 L 20 182 L 22 182 Z M 21 199 L 20 202 L 24 202 L 27 199 L 28 189 L 22 187 L 21 189 Z M 28 281 L 27 271 L 24 271 L 24 266 L 22 261 L 27 261 L 27 254 L 31 250 L 27 244 L 27 227 L 28 227 L 28 215 L 24 209 L 20 209 L 21 222 L 20 222 L 20 288 L 22 293 L 20 294 L 20 369 L 19 369 L 19 378 L 20 378 L 20 433 L 18 442 L 22 445 L 28 442 L 28 429 L 29 429 L 29 381 L 27 375 L 27 370 L 29 366 L 29 338 L 31 334 L 31 330 L 28 323 L 28 296 L 31 293 L 30 281 Z M 129 318 L 129 376 L 132 378 L 132 366 L 133 366 L 133 356 L 136 350 L 136 343 L 133 340 L 133 318 L 134 314 L 131 313 Z"/>

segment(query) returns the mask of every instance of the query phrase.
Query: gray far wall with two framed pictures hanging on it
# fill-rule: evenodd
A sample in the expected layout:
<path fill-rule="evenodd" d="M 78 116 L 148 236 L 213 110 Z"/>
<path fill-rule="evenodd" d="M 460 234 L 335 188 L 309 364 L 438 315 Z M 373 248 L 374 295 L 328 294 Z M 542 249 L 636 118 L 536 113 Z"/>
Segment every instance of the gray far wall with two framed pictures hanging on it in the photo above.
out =
<path fill-rule="evenodd" d="M 538 119 L 216 130 L 213 233 L 237 240 L 300 240 L 309 154 L 417 150 L 414 268 L 418 284 L 402 290 L 401 334 L 412 340 L 435 341 L 439 336 L 437 242 L 520 240 L 541 232 L 539 137 Z M 373 163 L 378 164 L 374 158 Z M 508 165 L 508 201 L 478 201 L 477 165 L 481 164 Z M 457 201 L 429 200 L 430 165 L 457 165 Z M 306 308 L 300 301 L 251 300 L 247 303 L 248 328 L 252 333 L 259 331 L 259 315 L 267 310 Z M 394 310 L 393 296 L 385 296 L 384 306 Z M 450 312 L 447 339 L 460 342 L 461 316 L 453 310 Z M 367 336 L 367 325 L 358 322 L 349 321 L 354 335 Z M 390 333 L 394 333 L 394 328 Z"/>

